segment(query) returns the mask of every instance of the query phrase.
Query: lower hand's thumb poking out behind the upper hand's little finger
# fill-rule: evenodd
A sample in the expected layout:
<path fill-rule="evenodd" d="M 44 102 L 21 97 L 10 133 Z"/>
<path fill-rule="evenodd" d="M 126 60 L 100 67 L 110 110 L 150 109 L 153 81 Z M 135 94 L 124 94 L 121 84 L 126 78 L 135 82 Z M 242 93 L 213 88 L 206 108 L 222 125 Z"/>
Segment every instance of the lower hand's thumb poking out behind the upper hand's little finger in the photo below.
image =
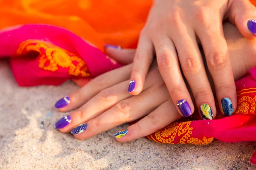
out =
<path fill-rule="evenodd" d="M 106 54 L 119 64 L 127 65 L 133 62 L 135 49 L 118 49 L 113 47 L 106 48 Z"/>

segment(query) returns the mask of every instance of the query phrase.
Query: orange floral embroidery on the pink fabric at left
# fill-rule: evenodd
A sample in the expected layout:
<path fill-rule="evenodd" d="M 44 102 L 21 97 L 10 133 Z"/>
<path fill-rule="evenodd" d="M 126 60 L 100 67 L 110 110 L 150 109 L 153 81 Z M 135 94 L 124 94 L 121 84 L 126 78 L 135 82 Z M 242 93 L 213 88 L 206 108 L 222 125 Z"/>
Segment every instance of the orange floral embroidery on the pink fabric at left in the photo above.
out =
<path fill-rule="evenodd" d="M 39 40 L 26 40 L 20 44 L 16 54 L 26 54 L 29 51 L 37 51 L 40 54 L 38 66 L 44 70 L 58 71 L 60 68 L 68 68 L 70 75 L 90 76 L 85 62 L 80 57 L 58 46 Z"/>

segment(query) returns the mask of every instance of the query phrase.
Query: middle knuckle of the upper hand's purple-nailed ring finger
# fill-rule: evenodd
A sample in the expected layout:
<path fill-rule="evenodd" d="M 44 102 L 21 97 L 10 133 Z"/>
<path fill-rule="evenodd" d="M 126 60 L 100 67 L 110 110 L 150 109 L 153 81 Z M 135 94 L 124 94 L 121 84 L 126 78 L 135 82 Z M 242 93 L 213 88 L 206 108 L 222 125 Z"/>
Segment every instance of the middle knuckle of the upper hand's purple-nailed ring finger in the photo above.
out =
<path fill-rule="evenodd" d="M 157 62 L 159 65 L 159 69 L 164 72 L 170 71 L 172 65 L 177 64 L 177 62 L 175 62 L 174 57 L 168 55 L 167 53 L 159 54 L 157 56 Z"/>

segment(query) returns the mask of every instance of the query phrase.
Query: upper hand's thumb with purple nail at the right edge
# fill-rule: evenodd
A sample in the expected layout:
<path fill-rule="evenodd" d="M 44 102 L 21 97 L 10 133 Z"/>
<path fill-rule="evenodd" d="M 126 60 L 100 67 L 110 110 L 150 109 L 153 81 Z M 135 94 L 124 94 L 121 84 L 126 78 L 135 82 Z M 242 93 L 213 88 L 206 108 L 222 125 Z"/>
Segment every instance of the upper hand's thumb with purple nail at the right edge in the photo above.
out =
<path fill-rule="evenodd" d="M 255 0 L 253 2 L 256 4 Z M 229 20 L 244 37 L 256 37 L 256 7 L 250 0 L 233 0 Z"/>

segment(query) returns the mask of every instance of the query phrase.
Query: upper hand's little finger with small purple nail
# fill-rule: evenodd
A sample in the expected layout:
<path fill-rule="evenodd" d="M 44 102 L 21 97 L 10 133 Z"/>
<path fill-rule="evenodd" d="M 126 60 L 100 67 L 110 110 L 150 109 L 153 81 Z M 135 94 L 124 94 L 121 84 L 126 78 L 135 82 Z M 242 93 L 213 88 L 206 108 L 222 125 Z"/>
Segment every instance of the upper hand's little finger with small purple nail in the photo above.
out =
<path fill-rule="evenodd" d="M 128 93 L 132 95 L 140 94 L 143 90 L 145 77 L 148 68 L 153 60 L 153 45 L 150 40 L 140 38 L 137 51 L 134 57 L 133 68 L 131 72 L 131 82 L 129 82 Z"/>

